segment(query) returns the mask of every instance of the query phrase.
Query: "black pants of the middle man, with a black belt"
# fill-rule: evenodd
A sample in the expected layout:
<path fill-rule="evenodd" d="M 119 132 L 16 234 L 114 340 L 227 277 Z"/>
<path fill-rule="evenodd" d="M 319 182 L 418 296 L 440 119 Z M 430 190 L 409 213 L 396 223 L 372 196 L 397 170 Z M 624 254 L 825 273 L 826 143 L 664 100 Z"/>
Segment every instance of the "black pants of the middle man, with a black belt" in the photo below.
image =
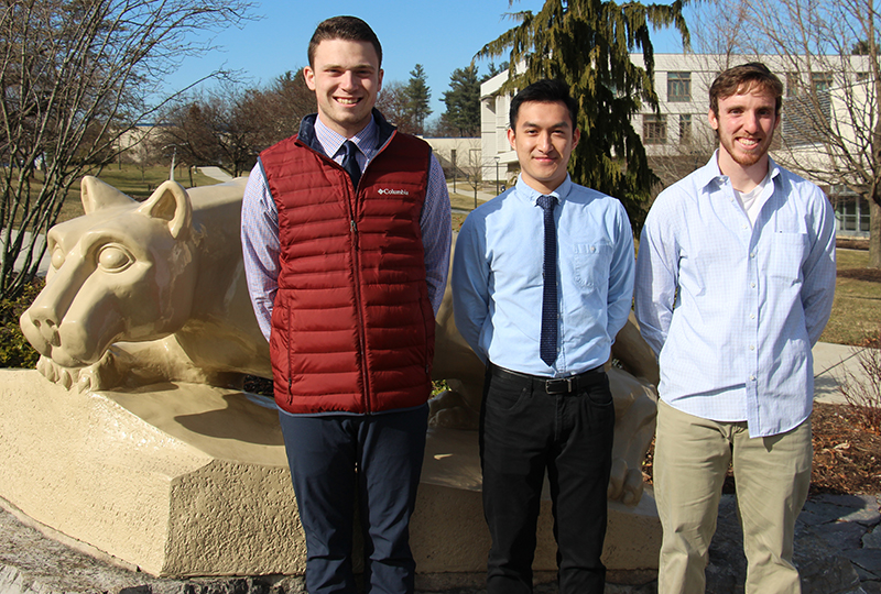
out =
<path fill-rule="evenodd" d="M 483 514 L 492 546 L 488 594 L 532 592 L 545 470 L 561 594 L 601 593 L 614 406 L 601 370 L 548 394 L 541 378 L 490 365 L 480 421 Z"/>

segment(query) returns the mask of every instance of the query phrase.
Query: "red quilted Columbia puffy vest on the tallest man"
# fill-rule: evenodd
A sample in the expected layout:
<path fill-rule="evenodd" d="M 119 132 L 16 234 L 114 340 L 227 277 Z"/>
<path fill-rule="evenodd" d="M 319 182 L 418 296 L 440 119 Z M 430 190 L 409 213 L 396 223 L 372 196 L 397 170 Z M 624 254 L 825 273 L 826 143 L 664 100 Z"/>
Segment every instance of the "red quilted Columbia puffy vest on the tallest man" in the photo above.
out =
<path fill-rule="evenodd" d="M 435 321 L 420 215 L 431 147 L 393 132 L 357 195 L 341 166 L 297 138 L 260 160 L 279 211 L 279 406 L 369 414 L 424 404 Z"/>

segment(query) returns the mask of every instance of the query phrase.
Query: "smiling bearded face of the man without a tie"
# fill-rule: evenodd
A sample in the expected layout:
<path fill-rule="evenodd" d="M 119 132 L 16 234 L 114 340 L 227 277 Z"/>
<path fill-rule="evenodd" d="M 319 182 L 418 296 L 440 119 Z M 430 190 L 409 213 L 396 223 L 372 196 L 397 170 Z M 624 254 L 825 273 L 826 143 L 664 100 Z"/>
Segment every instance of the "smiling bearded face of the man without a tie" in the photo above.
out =
<path fill-rule="evenodd" d="M 768 170 L 768 151 L 780 125 L 774 96 L 751 87 L 719 99 L 718 113 L 710 110 L 709 123 L 719 134 L 719 168 L 726 175 L 755 169 Z"/>

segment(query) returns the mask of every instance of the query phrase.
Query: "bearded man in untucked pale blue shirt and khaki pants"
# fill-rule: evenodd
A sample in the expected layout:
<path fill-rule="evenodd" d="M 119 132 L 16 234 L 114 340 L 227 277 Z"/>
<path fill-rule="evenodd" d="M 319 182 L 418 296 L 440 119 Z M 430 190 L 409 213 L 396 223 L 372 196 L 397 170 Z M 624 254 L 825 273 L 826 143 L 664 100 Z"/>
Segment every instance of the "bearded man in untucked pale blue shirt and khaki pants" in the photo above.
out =
<path fill-rule="evenodd" d="M 764 65 L 719 75 L 719 150 L 664 190 L 640 241 L 637 318 L 659 355 L 659 593 L 705 590 L 733 462 L 746 592 L 801 592 L 795 518 L 811 481 L 811 349 L 835 290 L 831 205 L 768 155 L 783 85 Z"/>

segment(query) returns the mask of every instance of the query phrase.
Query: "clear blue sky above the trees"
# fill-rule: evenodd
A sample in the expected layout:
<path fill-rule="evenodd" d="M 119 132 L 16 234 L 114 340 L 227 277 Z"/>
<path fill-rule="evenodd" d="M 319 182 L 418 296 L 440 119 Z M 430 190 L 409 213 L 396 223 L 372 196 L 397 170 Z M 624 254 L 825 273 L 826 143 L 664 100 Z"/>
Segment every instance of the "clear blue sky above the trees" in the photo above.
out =
<path fill-rule="evenodd" d="M 511 7 L 509 0 L 262 0 L 254 4 L 258 20 L 222 32 L 214 41 L 218 50 L 185 58 L 180 70 L 166 78 L 166 88 L 184 88 L 220 67 L 239 70 L 248 86 L 267 85 L 307 64 L 306 46 L 319 22 L 352 14 L 367 21 L 382 44 L 384 82 L 406 84 L 410 72 L 422 64 L 432 91 L 432 120 L 445 110 L 443 94 L 449 89 L 453 70 L 468 66 L 483 45 L 516 24 L 507 13 L 537 11 L 543 1 L 518 0 Z M 664 38 L 661 35 L 654 42 L 655 52 L 678 51 L 675 41 L 671 44 Z M 478 75 L 489 72 L 488 61 L 477 65 Z"/>

